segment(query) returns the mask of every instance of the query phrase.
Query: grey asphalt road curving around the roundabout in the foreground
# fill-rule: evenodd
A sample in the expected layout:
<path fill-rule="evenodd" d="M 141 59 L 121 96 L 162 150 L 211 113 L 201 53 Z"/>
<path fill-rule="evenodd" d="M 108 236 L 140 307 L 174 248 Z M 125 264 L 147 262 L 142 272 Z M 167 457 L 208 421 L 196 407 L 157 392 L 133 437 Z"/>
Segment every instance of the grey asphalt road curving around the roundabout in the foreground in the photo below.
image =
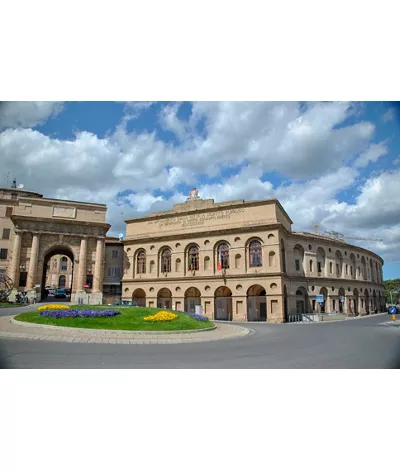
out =
<path fill-rule="evenodd" d="M 240 339 L 116 345 L 6 339 L 2 368 L 258 369 L 400 368 L 399 326 L 390 315 L 322 324 L 244 324 Z"/>

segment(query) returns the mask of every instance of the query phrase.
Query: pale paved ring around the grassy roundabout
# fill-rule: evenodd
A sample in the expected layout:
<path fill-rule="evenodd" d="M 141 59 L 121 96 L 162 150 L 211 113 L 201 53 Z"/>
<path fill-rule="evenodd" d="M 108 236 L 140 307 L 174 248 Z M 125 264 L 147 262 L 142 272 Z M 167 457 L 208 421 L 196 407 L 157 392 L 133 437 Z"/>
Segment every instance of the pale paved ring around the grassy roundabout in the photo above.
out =
<path fill-rule="evenodd" d="M 234 339 L 251 334 L 249 328 L 228 323 L 215 324 L 216 328 L 208 331 L 182 333 L 67 328 L 17 322 L 13 320 L 16 314 L 0 317 L 0 339 L 34 339 L 68 343 L 180 344 Z"/>

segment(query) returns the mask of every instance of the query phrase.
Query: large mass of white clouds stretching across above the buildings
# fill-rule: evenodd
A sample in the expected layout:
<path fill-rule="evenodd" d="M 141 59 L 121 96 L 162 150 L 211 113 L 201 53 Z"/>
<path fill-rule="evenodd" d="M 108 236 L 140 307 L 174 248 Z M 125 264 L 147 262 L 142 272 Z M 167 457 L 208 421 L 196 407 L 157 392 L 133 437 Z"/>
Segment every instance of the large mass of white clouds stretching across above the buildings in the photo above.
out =
<path fill-rule="evenodd" d="M 151 105 L 129 103 L 127 113 L 136 116 Z M 57 108 L 52 109 L 47 108 L 47 117 Z M 113 234 L 125 232 L 125 219 L 184 201 L 187 196 L 176 188 L 185 183 L 197 186 L 201 197 L 216 201 L 276 197 L 293 219 L 294 230 L 312 231 L 319 224 L 321 230 L 346 235 L 382 233 L 384 243 L 363 246 L 395 260 L 400 243 L 400 172 L 360 181 L 357 168 L 377 161 L 387 148 L 385 142 L 371 143 L 372 123 L 346 124 L 358 111 L 342 102 L 201 102 L 194 103 L 190 118 L 183 121 L 178 118 L 179 105 L 167 104 L 160 122 L 181 140 L 179 146 L 160 140 L 155 131 L 129 133 L 128 114 L 105 138 L 80 132 L 66 141 L 32 129 L 7 129 L 0 133 L 0 158 L 4 174 L 10 171 L 28 189 L 48 197 L 107 204 Z M 36 120 L 31 114 L 30 122 L 45 119 L 45 114 L 42 108 Z M 201 183 L 199 175 L 220 177 L 223 167 L 235 168 L 244 161 L 238 174 L 219 183 Z M 354 161 L 354 168 L 349 167 Z M 276 187 L 266 179 L 268 172 L 291 180 Z M 342 191 L 354 188 L 353 202 L 339 202 Z M 135 194 L 118 199 L 126 189 Z M 166 199 L 155 190 L 172 196 Z"/>

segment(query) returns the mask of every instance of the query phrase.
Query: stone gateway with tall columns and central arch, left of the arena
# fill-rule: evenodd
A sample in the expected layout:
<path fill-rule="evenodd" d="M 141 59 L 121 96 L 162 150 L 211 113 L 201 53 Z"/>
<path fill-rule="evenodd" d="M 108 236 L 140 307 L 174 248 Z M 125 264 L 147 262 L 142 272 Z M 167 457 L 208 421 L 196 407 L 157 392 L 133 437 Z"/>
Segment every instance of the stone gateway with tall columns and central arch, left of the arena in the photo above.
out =
<path fill-rule="evenodd" d="M 27 207 L 29 215 L 25 215 Z M 71 302 L 102 303 L 105 237 L 110 228 L 105 223 L 106 206 L 21 198 L 15 209 L 11 216 L 15 235 L 9 266 L 14 287 L 22 284 L 22 290 L 30 296 L 36 294 L 40 300 L 45 292 L 48 262 L 52 256 L 62 254 L 73 263 Z"/>

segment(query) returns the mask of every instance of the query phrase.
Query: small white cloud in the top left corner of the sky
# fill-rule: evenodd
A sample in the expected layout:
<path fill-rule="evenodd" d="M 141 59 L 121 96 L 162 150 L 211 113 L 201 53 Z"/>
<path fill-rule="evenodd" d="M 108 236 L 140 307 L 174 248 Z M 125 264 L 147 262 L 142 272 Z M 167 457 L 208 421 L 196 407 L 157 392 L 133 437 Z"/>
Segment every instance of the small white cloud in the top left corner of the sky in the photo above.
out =
<path fill-rule="evenodd" d="M 0 130 L 35 127 L 61 112 L 60 101 L 3 101 L 0 102 Z"/>

